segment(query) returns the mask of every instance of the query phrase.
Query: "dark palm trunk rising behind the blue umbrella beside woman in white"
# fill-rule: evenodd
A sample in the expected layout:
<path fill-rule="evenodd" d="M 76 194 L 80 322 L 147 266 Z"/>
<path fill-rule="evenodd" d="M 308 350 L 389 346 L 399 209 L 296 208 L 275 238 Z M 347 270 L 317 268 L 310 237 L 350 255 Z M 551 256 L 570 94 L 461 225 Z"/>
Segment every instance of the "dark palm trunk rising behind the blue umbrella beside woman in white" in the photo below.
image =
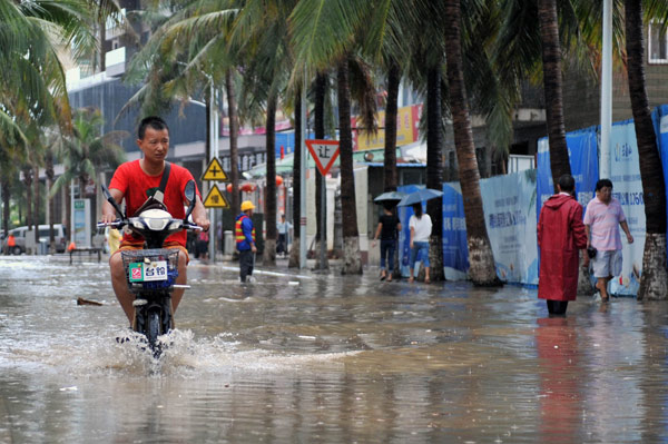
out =
<path fill-rule="evenodd" d="M 426 75 L 426 187 L 443 189 L 443 119 L 441 117 L 441 68 L 429 68 Z M 429 238 L 429 262 L 431 279 L 443 280 L 443 201 L 431 199 L 426 203 L 426 213 L 432 219 L 432 233 Z"/>

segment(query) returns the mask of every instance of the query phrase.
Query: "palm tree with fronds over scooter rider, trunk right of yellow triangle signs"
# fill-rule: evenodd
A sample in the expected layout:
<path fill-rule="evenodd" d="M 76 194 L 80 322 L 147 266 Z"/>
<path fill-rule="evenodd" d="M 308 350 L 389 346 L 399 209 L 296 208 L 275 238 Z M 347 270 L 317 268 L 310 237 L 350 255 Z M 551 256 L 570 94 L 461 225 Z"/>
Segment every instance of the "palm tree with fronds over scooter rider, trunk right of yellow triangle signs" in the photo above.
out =
<path fill-rule="evenodd" d="M 157 19 L 155 31 L 132 58 L 126 75 L 128 81 L 143 83 L 143 87 L 124 110 L 141 106 L 145 112 L 164 111 L 174 105 L 173 99 L 187 101 L 205 86 L 208 87 L 210 81 L 225 85 L 229 118 L 230 205 L 235 215 L 239 213 L 238 129 L 239 120 L 243 120 L 237 102 L 237 68 L 242 60 L 240 47 L 245 45 L 245 37 L 252 33 L 248 26 L 253 21 L 250 6 L 250 2 L 235 0 L 187 0 L 175 4 L 171 14 L 165 16 L 160 3 L 153 2 L 148 12 Z M 239 17 L 246 9 L 246 16 Z M 254 11 L 259 13 L 257 8 Z M 244 24 L 238 27 L 243 32 L 239 30 L 239 36 L 233 39 L 237 23 Z M 245 107 L 244 103 L 242 106 Z"/>

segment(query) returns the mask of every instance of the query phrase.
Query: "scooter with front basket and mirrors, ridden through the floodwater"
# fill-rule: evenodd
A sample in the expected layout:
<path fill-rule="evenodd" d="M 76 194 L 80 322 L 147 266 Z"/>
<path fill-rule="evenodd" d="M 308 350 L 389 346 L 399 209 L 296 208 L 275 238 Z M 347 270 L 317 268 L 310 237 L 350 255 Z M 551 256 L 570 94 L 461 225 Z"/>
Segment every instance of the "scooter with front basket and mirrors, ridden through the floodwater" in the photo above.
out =
<path fill-rule="evenodd" d="M 189 285 L 176 284 L 179 250 L 163 248 L 163 244 L 168 236 L 181 229 L 202 230 L 202 227 L 188 221 L 195 208 L 195 182 L 190 180 L 186 184 L 185 196 L 190 205 L 184 219 L 175 219 L 169 213 L 157 208 L 145 209 L 137 217 L 127 217 L 104 185 L 102 193 L 120 219 L 99 223 L 98 228 L 128 227 L 145 239 L 145 249 L 124 250 L 120 254 L 128 288 L 135 295 L 132 328 L 146 336 L 154 357 L 159 358 L 163 349 L 158 336 L 174 328 L 171 293 L 175 288 L 190 288 Z"/>

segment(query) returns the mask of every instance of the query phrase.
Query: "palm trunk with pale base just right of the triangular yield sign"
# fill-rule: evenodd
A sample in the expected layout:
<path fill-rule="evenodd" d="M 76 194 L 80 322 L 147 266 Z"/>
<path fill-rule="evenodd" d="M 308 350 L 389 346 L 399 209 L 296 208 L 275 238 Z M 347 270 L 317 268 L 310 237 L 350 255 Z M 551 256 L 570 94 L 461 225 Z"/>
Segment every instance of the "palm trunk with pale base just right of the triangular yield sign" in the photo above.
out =
<path fill-rule="evenodd" d="M 353 137 L 351 130 L 351 89 L 347 58 L 337 68 L 338 140 L 341 161 L 341 213 L 343 221 L 343 275 L 361 275 L 360 235 L 353 174 Z"/>

